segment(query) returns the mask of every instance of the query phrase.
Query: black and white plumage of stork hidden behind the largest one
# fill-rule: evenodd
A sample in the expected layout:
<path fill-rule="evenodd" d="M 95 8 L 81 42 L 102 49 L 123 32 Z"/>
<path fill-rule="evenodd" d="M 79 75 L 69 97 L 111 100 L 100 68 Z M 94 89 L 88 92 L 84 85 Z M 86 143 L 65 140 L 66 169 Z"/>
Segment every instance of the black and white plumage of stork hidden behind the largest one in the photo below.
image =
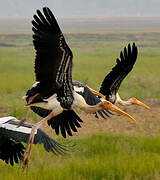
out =
<path fill-rule="evenodd" d="M 30 90 L 28 90 L 26 94 L 27 103 L 28 103 L 29 97 L 36 94 L 38 83 L 39 82 L 36 82 L 33 85 L 33 87 Z M 96 105 L 99 102 L 101 102 L 101 100 L 95 94 L 93 94 L 84 83 L 73 80 L 73 88 L 78 94 L 84 97 L 87 104 Z M 43 109 L 40 107 L 31 107 L 31 109 L 33 112 L 35 112 L 41 117 L 46 117 L 47 115 L 51 113 L 51 110 Z M 102 118 L 105 118 L 105 119 L 106 119 L 106 116 L 110 117 L 110 115 L 112 114 L 108 110 L 101 110 L 95 113 L 97 117 L 98 117 L 97 114 L 99 114 Z M 48 125 L 51 126 L 52 129 L 55 130 L 55 133 L 57 135 L 59 135 L 59 132 L 61 132 L 62 136 L 66 138 L 66 134 L 68 134 L 69 136 L 72 136 L 72 131 L 78 132 L 77 128 L 81 127 L 80 123 L 82 122 L 83 122 L 82 119 L 77 115 L 75 111 L 68 110 L 68 111 L 63 111 L 61 114 L 48 120 Z"/>

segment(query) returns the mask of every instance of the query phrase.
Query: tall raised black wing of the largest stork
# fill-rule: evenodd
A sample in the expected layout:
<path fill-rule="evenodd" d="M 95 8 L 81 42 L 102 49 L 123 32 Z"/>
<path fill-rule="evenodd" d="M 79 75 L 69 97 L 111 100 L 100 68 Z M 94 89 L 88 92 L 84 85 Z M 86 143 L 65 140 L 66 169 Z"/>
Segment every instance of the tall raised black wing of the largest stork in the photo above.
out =
<path fill-rule="evenodd" d="M 73 55 L 51 10 L 44 7 L 43 13 L 37 10 L 32 21 L 35 74 L 36 81 L 40 81 L 41 92 L 50 96 L 63 85 Z"/>

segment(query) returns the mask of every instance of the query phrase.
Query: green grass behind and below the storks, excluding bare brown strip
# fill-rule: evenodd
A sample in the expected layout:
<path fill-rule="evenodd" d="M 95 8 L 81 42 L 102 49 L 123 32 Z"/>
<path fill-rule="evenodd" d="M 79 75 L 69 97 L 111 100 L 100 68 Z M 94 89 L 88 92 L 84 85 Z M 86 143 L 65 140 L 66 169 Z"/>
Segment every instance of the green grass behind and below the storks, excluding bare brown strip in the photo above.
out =
<path fill-rule="evenodd" d="M 137 63 L 120 88 L 124 99 L 160 99 L 160 32 L 73 33 L 66 39 L 74 54 L 73 77 L 99 89 L 104 76 L 115 65 L 119 52 L 136 42 Z M 34 83 L 34 50 L 30 34 L 0 34 L 0 113 L 22 118 L 21 97 Z M 158 115 L 158 114 L 157 114 Z M 30 119 L 40 118 L 30 113 Z M 84 119 L 85 120 L 85 119 Z M 159 124 L 158 124 L 159 125 Z M 83 129 L 82 129 L 83 130 Z M 100 133 L 72 138 L 75 152 L 54 156 L 42 147 L 33 149 L 29 172 L 0 161 L 0 179 L 153 180 L 160 179 L 160 134 L 125 135 Z M 52 133 L 52 136 L 55 137 Z M 62 140 L 59 138 L 62 142 Z"/>

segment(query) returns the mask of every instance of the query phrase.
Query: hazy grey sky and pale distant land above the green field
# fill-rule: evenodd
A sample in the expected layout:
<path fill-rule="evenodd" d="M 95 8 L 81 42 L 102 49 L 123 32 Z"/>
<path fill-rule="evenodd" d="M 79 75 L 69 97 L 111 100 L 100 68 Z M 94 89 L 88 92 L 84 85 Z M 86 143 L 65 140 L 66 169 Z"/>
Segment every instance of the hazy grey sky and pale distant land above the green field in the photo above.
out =
<path fill-rule="evenodd" d="M 160 0 L 1 0 L 0 32 L 30 32 L 36 9 L 48 6 L 63 32 L 160 30 Z"/>

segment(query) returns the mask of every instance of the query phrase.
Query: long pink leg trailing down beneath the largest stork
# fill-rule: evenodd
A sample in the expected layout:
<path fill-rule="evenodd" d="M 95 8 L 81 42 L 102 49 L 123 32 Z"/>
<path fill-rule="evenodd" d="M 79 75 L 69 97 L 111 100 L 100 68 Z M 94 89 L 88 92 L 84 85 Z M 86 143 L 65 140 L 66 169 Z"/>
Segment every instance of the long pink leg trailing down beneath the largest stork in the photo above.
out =
<path fill-rule="evenodd" d="M 38 128 L 40 128 L 40 126 L 45 122 L 48 121 L 49 119 L 51 119 L 52 117 L 54 117 L 53 113 L 50 113 L 47 117 L 45 117 L 44 119 L 42 119 L 40 122 L 36 123 L 31 130 L 31 134 L 29 136 L 29 141 L 28 144 L 26 146 L 24 155 L 23 155 L 23 159 L 22 159 L 22 163 L 23 163 L 23 168 L 25 168 L 26 166 L 28 166 L 29 163 L 29 159 L 31 156 L 31 149 L 32 149 L 32 144 L 34 141 L 34 136 L 35 136 L 35 132 L 37 131 Z"/>

